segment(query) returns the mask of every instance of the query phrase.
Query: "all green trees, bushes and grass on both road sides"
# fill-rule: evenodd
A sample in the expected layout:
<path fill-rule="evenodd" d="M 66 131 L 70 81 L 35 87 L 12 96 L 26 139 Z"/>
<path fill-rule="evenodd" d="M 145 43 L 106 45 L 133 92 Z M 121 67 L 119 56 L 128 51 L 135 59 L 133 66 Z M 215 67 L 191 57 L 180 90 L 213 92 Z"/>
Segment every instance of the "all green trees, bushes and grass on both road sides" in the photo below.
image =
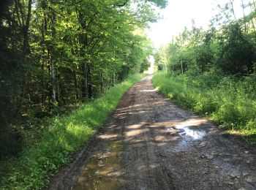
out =
<path fill-rule="evenodd" d="M 167 0 L 1 0 L 0 189 L 46 188 L 151 55 L 161 94 L 255 145 L 256 2 L 238 17 L 235 1 L 154 50 L 146 28 Z"/>

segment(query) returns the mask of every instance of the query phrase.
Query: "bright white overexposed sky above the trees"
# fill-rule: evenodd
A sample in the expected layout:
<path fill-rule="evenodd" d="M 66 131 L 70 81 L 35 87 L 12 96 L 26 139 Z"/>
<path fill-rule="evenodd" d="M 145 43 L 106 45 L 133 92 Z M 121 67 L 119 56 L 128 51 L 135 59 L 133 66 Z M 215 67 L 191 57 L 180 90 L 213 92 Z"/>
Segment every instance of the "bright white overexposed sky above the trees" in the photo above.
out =
<path fill-rule="evenodd" d="M 162 20 L 152 23 L 148 31 L 148 37 L 154 47 L 167 44 L 173 36 L 178 35 L 184 27 L 192 27 L 192 19 L 195 26 L 207 28 L 211 18 L 217 14 L 217 4 L 225 4 L 228 0 L 168 0 L 168 6 L 161 10 Z M 246 3 L 249 0 L 244 0 Z M 241 0 L 235 0 L 234 9 L 237 18 L 242 13 Z"/>

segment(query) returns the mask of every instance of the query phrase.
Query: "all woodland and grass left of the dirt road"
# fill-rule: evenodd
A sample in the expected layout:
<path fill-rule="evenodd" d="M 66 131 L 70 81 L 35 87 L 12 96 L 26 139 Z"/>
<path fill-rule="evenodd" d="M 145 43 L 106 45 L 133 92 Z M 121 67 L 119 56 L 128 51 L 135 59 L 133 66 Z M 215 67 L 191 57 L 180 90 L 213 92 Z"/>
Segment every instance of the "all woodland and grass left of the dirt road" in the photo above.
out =
<path fill-rule="evenodd" d="M 166 4 L 165 0 L 0 1 L 3 189 L 10 189 L 10 184 L 16 189 L 45 186 L 46 179 L 102 125 L 121 94 L 141 77 L 131 75 L 148 68 L 153 48 L 145 28 L 157 21 L 157 9 Z M 82 118 L 83 109 L 91 109 L 91 114 Z M 61 129 L 67 123 L 74 125 L 70 133 L 75 137 Z"/>

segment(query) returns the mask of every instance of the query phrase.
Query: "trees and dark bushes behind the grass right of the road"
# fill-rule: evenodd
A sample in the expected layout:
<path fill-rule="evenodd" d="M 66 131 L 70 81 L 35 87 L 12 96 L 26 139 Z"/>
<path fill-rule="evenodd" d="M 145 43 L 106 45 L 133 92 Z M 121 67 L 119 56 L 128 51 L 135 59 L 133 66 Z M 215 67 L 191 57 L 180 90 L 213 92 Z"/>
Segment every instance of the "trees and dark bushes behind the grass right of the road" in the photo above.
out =
<path fill-rule="evenodd" d="M 227 75 L 255 72 L 255 6 L 248 4 L 251 7 L 249 15 L 237 20 L 230 15 L 233 12 L 231 2 L 221 9 L 208 30 L 196 28 L 192 22 L 192 29 L 184 28 L 167 47 L 160 48 L 155 53 L 159 68 L 180 72 L 188 69 L 196 72 L 218 69 Z"/>

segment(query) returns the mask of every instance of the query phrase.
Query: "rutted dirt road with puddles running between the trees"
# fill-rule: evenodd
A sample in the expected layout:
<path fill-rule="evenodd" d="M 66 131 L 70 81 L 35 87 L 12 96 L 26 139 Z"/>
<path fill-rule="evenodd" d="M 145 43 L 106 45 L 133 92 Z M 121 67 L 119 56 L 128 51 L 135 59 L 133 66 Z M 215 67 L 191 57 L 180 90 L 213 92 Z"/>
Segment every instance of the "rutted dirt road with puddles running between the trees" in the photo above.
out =
<path fill-rule="evenodd" d="M 256 189 L 256 152 L 171 104 L 148 76 L 48 189 Z"/>

